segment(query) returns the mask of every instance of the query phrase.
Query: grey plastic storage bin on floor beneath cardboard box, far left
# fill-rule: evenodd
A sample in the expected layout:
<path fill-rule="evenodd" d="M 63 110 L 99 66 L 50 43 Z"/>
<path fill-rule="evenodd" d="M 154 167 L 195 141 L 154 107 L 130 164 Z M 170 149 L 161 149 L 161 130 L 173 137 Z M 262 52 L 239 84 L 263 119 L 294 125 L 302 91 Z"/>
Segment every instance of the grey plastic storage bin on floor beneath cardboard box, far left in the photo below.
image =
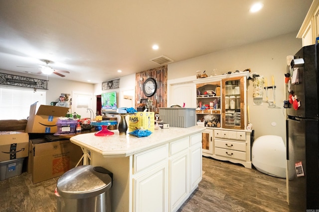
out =
<path fill-rule="evenodd" d="M 0 180 L 18 176 L 22 173 L 24 158 L 5 160 L 0 162 Z"/>

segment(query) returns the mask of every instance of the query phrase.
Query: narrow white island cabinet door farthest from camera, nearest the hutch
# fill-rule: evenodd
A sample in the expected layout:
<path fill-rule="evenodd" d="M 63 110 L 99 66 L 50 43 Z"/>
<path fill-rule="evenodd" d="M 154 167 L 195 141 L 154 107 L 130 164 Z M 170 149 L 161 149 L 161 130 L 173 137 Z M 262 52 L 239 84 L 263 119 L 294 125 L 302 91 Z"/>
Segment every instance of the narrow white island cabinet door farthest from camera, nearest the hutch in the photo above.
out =
<path fill-rule="evenodd" d="M 202 179 L 202 151 L 201 143 L 190 149 L 190 191 L 194 190 Z"/>

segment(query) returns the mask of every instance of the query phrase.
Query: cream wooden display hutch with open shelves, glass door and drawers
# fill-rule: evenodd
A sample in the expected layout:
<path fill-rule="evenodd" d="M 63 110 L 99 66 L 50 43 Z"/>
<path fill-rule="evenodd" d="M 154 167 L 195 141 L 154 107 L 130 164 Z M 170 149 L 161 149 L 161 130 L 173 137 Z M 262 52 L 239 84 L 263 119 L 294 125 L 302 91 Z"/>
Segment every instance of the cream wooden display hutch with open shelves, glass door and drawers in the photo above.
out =
<path fill-rule="evenodd" d="M 196 124 L 202 132 L 204 156 L 251 168 L 251 130 L 247 130 L 249 72 L 197 79 Z"/>

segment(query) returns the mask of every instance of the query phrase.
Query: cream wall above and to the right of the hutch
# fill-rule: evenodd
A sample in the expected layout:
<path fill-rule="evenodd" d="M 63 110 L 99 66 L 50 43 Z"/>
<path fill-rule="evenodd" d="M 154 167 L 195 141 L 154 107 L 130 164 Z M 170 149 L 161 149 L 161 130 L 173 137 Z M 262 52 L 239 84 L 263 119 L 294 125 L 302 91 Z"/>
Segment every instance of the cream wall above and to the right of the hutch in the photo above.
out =
<path fill-rule="evenodd" d="M 294 55 L 302 47 L 302 40 L 297 39 L 296 35 L 297 32 L 294 32 L 262 42 L 168 64 L 168 80 L 189 76 L 196 79 L 197 70 L 202 72 L 206 70 L 209 76 L 213 69 L 217 69 L 217 74 L 223 74 L 228 71 L 243 71 L 250 68 L 251 73 L 256 72 L 267 78 L 268 86 L 271 86 L 271 79 L 274 76 L 275 86 L 277 87 L 276 105 L 280 106 L 281 109 L 269 108 L 266 103 L 262 106 L 254 106 L 252 98 L 253 81 L 249 81 L 250 121 L 255 129 L 255 138 L 262 135 L 278 135 L 286 141 L 286 116 L 285 110 L 282 108 L 283 101 L 286 99 L 284 74 L 288 72 L 286 56 Z M 234 39 L 236 39 L 235 36 Z M 268 93 L 270 92 L 272 91 Z M 270 96 L 273 97 L 272 93 Z M 272 123 L 276 123 L 276 126 L 273 126 Z"/>

